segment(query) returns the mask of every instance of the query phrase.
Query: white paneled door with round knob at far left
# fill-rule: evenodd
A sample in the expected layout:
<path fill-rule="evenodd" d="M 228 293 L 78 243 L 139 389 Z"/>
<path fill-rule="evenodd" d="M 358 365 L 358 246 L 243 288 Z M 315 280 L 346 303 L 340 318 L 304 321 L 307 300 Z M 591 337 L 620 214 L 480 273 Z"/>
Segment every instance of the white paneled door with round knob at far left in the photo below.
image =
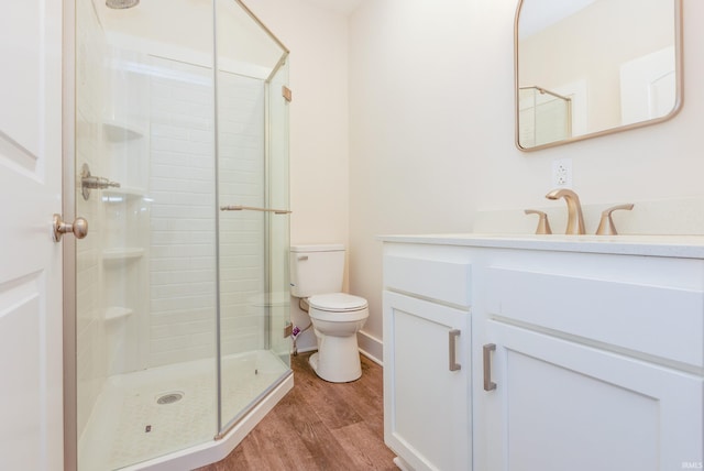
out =
<path fill-rule="evenodd" d="M 63 469 L 62 2 L 0 14 L 0 469 Z"/>

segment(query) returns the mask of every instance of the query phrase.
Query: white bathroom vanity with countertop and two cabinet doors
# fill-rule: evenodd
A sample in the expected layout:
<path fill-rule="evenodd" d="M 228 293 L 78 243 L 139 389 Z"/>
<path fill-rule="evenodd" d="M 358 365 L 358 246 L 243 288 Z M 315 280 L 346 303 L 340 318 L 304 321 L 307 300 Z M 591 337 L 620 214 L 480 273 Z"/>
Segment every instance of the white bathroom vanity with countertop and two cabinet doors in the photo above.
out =
<path fill-rule="evenodd" d="M 469 264 L 471 276 L 394 267 L 424 256 L 429 266 Z M 397 237 L 385 240 L 384 267 L 385 438 L 413 469 L 702 468 L 704 242 Z M 418 278 L 392 283 L 395 276 Z M 428 285 L 455 292 L 458 280 L 466 298 L 446 297 L 436 313 L 438 296 Z M 459 408 L 449 424 L 469 427 L 462 439 L 470 440 L 470 461 L 411 462 L 404 453 L 460 447 L 454 441 L 441 449 L 433 439 L 446 437 L 444 417 L 432 421 L 418 413 L 455 407 L 459 396 L 426 371 L 429 329 L 408 328 L 404 318 L 422 313 L 424 326 L 450 328 L 444 309 L 459 306 L 466 306 L 459 310 L 471 331 L 459 360 L 469 374 L 469 409 Z M 438 328 L 432 343 L 441 337 Z M 424 368 L 399 369 L 405 355 Z M 399 407 L 416 387 L 431 395 Z"/>

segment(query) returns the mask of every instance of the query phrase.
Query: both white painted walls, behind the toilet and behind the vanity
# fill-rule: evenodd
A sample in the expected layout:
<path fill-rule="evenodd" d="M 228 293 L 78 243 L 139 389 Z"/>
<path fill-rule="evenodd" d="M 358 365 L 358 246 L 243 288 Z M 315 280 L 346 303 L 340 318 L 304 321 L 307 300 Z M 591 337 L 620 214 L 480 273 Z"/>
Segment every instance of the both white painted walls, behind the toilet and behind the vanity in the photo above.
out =
<path fill-rule="evenodd" d="M 673 120 L 534 153 L 514 145 L 516 0 L 372 0 L 349 24 L 304 0 L 248 6 L 292 50 L 292 242 L 349 241 L 349 288 L 370 300 L 372 337 L 378 234 L 471 231 L 477 210 L 558 205 L 543 197 L 553 160 L 572 160 L 585 204 L 704 197 L 698 0 L 684 0 Z"/>

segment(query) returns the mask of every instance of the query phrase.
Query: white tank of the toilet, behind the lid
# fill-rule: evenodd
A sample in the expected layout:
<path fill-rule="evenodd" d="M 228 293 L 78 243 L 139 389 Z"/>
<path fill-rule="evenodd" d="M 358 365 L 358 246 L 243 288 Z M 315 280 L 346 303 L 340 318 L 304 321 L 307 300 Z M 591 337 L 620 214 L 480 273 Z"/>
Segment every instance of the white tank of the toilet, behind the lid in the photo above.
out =
<path fill-rule="evenodd" d="M 289 256 L 292 295 L 310 297 L 342 291 L 344 245 L 293 245 Z"/>

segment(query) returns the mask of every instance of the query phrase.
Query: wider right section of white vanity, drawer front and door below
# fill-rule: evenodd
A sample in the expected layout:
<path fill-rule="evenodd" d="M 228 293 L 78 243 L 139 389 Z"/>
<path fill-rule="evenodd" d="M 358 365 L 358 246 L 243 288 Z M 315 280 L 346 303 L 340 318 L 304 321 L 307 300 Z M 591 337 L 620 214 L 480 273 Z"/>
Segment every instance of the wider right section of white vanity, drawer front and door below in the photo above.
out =
<path fill-rule="evenodd" d="M 483 271 L 487 468 L 700 463 L 704 293 L 676 276 L 700 262 L 653 259 L 639 273 L 642 258 L 528 255 Z"/>

